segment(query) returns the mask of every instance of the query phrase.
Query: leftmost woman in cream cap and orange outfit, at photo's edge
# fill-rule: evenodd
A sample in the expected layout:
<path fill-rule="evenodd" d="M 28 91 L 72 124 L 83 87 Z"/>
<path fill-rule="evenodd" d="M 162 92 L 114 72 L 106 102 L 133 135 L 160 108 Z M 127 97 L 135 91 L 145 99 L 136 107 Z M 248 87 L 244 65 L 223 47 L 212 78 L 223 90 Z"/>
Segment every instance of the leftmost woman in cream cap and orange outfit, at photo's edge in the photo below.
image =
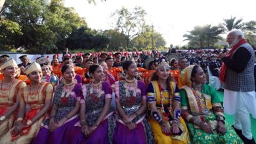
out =
<path fill-rule="evenodd" d="M 12 128 L 20 99 L 17 94 L 26 86 L 25 82 L 15 79 L 17 69 L 18 65 L 12 58 L 1 65 L 3 81 L 0 81 L 0 139 Z"/>

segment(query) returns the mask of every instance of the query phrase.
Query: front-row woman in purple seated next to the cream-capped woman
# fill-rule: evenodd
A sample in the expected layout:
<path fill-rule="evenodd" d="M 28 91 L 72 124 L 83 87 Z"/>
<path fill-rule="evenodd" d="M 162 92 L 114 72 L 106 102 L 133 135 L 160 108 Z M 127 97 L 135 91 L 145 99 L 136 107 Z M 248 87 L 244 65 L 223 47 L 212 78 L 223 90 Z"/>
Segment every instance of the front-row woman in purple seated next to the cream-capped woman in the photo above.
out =
<path fill-rule="evenodd" d="M 74 82 L 73 65 L 64 65 L 61 71 L 65 82 L 57 86 L 51 115 L 43 122 L 33 143 L 68 143 L 70 137 L 66 135 L 79 121 L 81 84 Z"/>

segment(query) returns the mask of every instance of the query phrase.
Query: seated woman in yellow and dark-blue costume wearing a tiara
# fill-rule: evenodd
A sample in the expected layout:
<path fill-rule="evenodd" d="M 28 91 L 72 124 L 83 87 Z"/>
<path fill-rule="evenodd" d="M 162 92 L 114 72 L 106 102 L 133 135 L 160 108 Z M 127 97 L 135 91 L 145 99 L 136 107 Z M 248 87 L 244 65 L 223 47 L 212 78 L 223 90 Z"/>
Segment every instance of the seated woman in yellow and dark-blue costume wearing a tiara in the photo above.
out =
<path fill-rule="evenodd" d="M 181 118 L 179 88 L 166 58 L 159 58 L 156 73 L 148 84 L 149 122 L 156 143 L 190 143 L 188 130 Z"/>

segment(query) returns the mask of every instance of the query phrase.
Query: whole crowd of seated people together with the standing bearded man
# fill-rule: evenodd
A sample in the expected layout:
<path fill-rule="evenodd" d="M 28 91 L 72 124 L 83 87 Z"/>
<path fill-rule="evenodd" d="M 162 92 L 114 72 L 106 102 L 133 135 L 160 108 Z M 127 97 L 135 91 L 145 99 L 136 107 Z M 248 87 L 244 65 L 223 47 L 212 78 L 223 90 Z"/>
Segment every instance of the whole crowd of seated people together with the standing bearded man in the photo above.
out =
<path fill-rule="evenodd" d="M 255 143 L 255 53 L 240 30 L 226 41 L 229 52 L 2 55 L 0 143 Z"/>

